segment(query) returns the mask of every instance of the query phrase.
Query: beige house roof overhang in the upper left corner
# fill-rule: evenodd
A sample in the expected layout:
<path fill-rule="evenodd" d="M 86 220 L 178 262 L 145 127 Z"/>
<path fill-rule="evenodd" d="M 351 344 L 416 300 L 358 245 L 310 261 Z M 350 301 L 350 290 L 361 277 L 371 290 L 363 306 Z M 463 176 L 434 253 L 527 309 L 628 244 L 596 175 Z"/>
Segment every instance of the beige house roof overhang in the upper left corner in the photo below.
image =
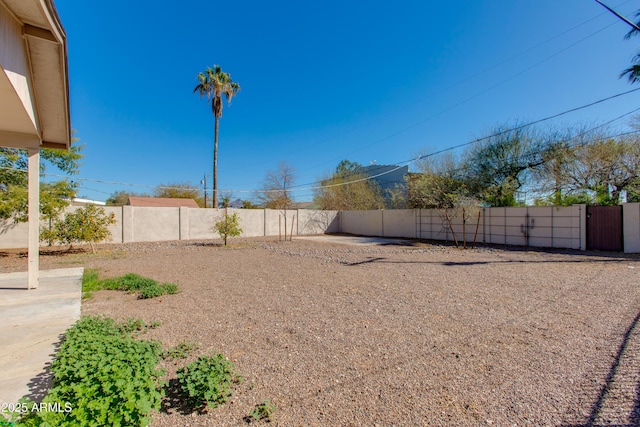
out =
<path fill-rule="evenodd" d="M 26 105 L 15 84 L 20 73 L 0 64 L 0 146 L 68 149 L 67 38 L 53 0 L 0 0 L 2 6 L 22 28 L 29 71 L 22 77 L 28 80 L 31 99 Z"/>

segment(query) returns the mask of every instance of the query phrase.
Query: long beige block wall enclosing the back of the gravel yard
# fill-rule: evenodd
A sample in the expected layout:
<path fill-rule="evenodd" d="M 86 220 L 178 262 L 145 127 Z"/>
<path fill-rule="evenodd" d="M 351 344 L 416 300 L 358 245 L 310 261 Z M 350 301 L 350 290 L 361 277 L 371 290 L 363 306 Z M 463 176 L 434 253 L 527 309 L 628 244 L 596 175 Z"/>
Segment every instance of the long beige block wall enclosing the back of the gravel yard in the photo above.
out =
<path fill-rule="evenodd" d="M 75 209 L 75 208 L 70 208 Z M 586 205 L 569 207 L 510 207 L 460 209 L 399 209 L 375 211 L 322 211 L 271 209 L 195 209 L 177 207 L 105 207 L 113 212 L 111 226 L 114 243 L 168 240 L 214 239 L 214 222 L 237 213 L 244 237 L 304 236 L 348 233 L 363 236 L 405 237 L 427 240 L 457 240 L 498 245 L 541 248 L 602 249 L 589 245 L 595 233 L 588 225 L 593 218 Z M 619 208 L 619 248 L 626 253 L 640 252 L 640 204 Z M 603 235 L 609 220 L 596 223 Z M 46 227 L 46 224 L 43 224 Z M 0 249 L 26 247 L 26 224 L 0 225 Z"/>

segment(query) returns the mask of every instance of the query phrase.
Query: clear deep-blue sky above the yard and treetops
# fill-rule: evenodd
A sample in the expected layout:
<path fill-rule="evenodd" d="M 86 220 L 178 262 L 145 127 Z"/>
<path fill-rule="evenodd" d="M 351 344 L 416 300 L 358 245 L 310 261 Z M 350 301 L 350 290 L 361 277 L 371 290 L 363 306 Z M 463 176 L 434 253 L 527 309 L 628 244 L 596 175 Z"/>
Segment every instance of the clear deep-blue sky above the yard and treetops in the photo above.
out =
<path fill-rule="evenodd" d="M 213 116 L 193 88 L 214 64 L 242 88 L 220 121 L 219 189 L 247 199 L 281 161 L 307 187 L 342 159 L 394 164 L 634 89 L 618 75 L 640 48 L 593 0 L 55 4 L 85 144 L 75 179 L 96 200 L 211 175 Z M 639 97 L 550 124 L 605 122 Z"/>

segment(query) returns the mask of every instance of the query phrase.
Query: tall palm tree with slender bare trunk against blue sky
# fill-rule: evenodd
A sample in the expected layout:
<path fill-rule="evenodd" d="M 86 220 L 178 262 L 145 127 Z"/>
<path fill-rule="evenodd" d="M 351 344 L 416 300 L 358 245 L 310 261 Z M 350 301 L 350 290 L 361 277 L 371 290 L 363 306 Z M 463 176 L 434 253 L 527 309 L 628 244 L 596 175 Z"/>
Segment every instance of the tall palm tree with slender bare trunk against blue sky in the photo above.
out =
<path fill-rule="evenodd" d="M 215 117 L 215 129 L 213 139 L 213 207 L 218 207 L 218 126 L 222 117 L 222 97 L 231 103 L 231 99 L 240 90 L 240 85 L 231 80 L 231 75 L 222 71 L 219 65 L 213 68 L 207 67 L 202 73 L 198 73 L 198 85 L 193 93 L 198 92 L 200 97 L 206 96 L 211 102 L 211 111 Z"/>

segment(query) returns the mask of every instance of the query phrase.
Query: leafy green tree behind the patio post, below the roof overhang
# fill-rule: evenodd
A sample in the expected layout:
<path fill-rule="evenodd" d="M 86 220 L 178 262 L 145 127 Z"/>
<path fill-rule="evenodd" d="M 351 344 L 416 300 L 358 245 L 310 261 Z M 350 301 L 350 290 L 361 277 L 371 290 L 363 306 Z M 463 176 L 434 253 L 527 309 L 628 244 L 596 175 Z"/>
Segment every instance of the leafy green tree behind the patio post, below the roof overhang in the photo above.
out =
<path fill-rule="evenodd" d="M 75 139 L 74 139 L 75 140 Z M 44 148 L 40 151 L 40 172 L 50 168 L 75 175 L 80 168 L 82 145 L 67 150 Z M 14 223 L 28 220 L 28 156 L 26 150 L 0 147 L 0 219 Z M 51 220 L 71 203 L 77 184 L 68 179 L 40 184 L 40 213 Z"/>

